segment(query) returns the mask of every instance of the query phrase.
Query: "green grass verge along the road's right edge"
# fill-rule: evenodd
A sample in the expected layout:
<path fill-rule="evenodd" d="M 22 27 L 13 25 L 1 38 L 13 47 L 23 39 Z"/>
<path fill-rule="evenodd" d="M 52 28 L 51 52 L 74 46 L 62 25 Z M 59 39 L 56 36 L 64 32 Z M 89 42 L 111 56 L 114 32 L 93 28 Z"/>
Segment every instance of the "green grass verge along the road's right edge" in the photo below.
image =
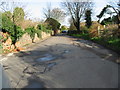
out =
<path fill-rule="evenodd" d="M 98 43 L 106 48 L 109 48 L 118 54 L 120 54 L 120 38 L 117 37 L 93 37 L 91 38 L 88 33 L 86 34 L 69 34 L 70 36 L 82 38 L 85 40 L 91 40 L 95 43 Z"/>

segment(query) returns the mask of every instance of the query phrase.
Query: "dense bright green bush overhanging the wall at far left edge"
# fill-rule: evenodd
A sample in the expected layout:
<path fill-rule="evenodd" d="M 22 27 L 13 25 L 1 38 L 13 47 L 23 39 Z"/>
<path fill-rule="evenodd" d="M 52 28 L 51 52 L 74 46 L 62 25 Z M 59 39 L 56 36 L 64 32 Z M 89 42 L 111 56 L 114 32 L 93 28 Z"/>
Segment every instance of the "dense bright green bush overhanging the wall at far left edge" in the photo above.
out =
<path fill-rule="evenodd" d="M 16 41 L 19 40 L 20 37 L 22 37 L 24 31 L 21 29 L 21 27 L 16 26 L 11 21 L 11 18 L 7 15 L 8 14 L 6 14 L 6 12 L 2 14 L 2 31 L 7 32 L 12 39 L 12 43 L 15 44 Z"/>

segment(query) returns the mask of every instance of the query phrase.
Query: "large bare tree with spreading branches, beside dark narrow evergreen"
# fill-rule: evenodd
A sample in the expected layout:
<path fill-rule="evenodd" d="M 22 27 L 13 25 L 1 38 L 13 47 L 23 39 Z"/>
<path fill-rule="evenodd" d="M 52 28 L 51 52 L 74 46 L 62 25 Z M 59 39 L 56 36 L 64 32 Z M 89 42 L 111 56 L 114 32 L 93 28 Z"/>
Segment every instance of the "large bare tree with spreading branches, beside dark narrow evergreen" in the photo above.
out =
<path fill-rule="evenodd" d="M 62 3 L 69 14 L 72 17 L 73 23 L 77 28 L 78 32 L 80 32 L 80 22 L 82 17 L 85 14 L 85 11 L 92 6 L 92 2 L 90 0 L 66 0 L 66 2 Z"/>

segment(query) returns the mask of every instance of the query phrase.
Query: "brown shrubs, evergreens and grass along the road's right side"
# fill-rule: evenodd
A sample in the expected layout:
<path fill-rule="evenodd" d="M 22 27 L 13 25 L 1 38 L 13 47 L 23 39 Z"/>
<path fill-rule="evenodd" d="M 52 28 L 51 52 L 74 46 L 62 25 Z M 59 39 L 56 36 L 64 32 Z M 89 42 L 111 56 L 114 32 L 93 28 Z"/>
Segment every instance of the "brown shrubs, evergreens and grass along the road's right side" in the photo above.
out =
<path fill-rule="evenodd" d="M 91 40 L 120 54 L 120 20 L 118 13 L 120 13 L 118 9 L 107 5 L 97 15 L 99 20 L 91 21 L 91 11 L 87 10 L 85 13 L 86 22 L 80 23 L 81 33 L 78 33 L 76 27 L 71 23 L 68 35 Z M 105 15 L 109 17 L 104 18 Z M 101 18 L 104 19 L 101 20 Z"/>

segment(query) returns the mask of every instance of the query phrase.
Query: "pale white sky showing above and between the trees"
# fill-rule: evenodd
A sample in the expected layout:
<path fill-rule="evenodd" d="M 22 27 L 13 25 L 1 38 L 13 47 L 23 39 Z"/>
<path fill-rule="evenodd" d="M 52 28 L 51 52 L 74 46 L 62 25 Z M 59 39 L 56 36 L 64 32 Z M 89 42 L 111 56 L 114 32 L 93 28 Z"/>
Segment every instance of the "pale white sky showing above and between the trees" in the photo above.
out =
<path fill-rule="evenodd" d="M 64 9 L 64 7 L 61 7 L 61 4 L 60 4 L 60 2 L 64 0 L 1 0 L 1 1 L 4 1 L 4 2 L 15 1 L 15 2 L 25 3 L 26 4 L 25 10 L 29 12 L 30 14 L 29 18 L 31 19 L 33 18 L 44 19 L 43 8 L 46 8 L 49 2 L 51 2 L 52 8 L 59 7 L 61 9 Z M 98 15 L 101 12 L 101 10 L 103 9 L 103 7 L 106 6 L 108 1 L 109 0 L 94 0 L 95 7 L 93 11 L 93 16 L 94 16 L 93 20 L 97 20 L 96 15 Z M 114 0 L 114 1 L 117 1 L 117 0 Z M 65 18 L 62 24 L 68 26 L 69 24 L 68 17 Z"/>

